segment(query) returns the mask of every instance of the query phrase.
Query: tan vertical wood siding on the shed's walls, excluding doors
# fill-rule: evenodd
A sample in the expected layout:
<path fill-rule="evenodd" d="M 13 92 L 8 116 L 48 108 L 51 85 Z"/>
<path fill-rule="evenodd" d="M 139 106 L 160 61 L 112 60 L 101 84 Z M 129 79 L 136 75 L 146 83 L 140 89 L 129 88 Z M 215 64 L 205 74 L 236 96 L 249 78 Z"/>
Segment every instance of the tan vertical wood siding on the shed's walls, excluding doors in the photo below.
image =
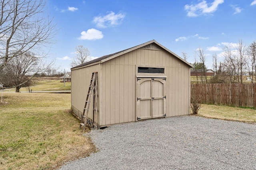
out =
<path fill-rule="evenodd" d="M 92 72 L 99 70 L 101 66 L 98 115 L 100 126 L 136 121 L 138 65 L 166 69 L 166 117 L 189 114 L 189 66 L 166 51 L 146 49 L 131 51 L 96 66 L 73 70 L 72 106 L 80 111 L 83 109 L 90 82 L 84 77 L 91 77 Z M 162 105 L 161 102 L 159 104 Z"/>

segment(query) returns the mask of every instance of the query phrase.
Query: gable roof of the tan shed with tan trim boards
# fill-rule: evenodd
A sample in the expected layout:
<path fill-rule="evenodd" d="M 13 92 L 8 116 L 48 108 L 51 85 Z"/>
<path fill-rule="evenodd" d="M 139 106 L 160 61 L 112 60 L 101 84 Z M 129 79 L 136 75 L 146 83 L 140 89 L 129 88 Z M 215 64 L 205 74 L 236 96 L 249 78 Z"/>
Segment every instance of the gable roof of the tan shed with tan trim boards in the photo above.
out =
<path fill-rule="evenodd" d="M 123 55 L 125 53 L 129 53 L 130 51 L 134 51 L 136 49 L 139 49 L 141 47 L 144 47 L 145 49 L 147 48 L 148 45 L 152 44 L 156 49 L 164 49 L 165 51 L 168 51 L 169 53 L 171 53 L 172 55 L 174 55 L 175 57 L 177 57 L 178 59 L 180 59 L 181 61 L 183 61 L 184 63 L 188 64 L 188 66 L 190 67 L 193 67 L 192 64 L 188 63 L 187 61 L 185 61 L 184 59 L 180 58 L 178 55 L 176 55 L 175 53 L 173 53 L 172 51 L 170 51 L 169 49 L 167 49 L 166 47 L 162 46 L 161 44 L 159 44 L 158 42 L 156 42 L 156 40 L 151 40 L 151 41 L 148 41 L 146 43 L 143 43 L 143 44 L 140 44 L 140 45 L 137 45 L 135 47 L 131 47 L 129 49 L 125 49 L 125 50 L 122 50 L 122 51 L 119 51 L 119 52 L 116 52 L 116 53 L 113 53 L 113 54 L 110 54 L 110 55 L 104 55 L 102 57 L 99 57 L 97 59 L 94 59 L 94 60 L 91 60 L 91 61 L 88 61 L 86 63 L 83 63 L 83 64 L 80 64 L 78 66 L 75 66 L 71 69 L 74 69 L 74 68 L 78 68 L 78 67 L 82 67 L 82 66 L 86 66 L 88 64 L 92 64 L 92 63 L 96 63 L 96 62 L 99 62 L 100 63 L 104 63 L 108 60 L 111 60 L 111 59 L 114 59 L 120 55 Z"/>

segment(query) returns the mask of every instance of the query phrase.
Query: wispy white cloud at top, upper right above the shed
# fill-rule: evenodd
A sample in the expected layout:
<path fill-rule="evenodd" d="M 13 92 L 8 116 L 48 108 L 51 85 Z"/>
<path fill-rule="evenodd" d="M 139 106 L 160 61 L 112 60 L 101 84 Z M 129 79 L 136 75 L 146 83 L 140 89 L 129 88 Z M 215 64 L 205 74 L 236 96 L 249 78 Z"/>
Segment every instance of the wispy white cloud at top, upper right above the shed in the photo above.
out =
<path fill-rule="evenodd" d="M 202 0 L 198 4 L 185 5 L 185 10 L 188 12 L 187 16 L 197 17 L 201 14 L 210 14 L 217 10 L 218 5 L 222 4 L 224 0 L 214 0 L 214 2 L 207 4 L 206 0 Z"/>

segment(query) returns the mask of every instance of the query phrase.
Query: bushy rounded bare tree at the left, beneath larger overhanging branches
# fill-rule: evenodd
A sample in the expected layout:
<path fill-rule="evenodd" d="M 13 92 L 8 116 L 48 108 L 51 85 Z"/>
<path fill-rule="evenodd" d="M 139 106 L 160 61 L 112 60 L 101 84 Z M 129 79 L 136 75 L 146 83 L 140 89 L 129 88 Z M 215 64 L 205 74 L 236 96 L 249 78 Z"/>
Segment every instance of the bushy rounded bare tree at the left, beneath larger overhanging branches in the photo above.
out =
<path fill-rule="evenodd" d="M 22 85 L 29 86 L 36 74 L 46 72 L 51 66 L 41 58 L 34 57 L 32 53 L 21 53 L 6 63 L 0 80 L 6 87 L 16 87 L 16 92 L 20 92 Z"/>

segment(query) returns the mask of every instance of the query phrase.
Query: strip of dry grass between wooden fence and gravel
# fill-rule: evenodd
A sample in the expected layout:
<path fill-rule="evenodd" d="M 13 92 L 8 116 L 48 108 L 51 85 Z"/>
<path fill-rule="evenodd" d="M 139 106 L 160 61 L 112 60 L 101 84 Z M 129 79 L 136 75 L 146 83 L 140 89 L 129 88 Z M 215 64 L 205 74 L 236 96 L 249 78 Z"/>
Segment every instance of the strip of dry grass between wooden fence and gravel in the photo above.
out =
<path fill-rule="evenodd" d="M 256 110 L 252 108 L 202 104 L 202 108 L 199 109 L 198 115 L 230 121 L 256 122 Z"/>

